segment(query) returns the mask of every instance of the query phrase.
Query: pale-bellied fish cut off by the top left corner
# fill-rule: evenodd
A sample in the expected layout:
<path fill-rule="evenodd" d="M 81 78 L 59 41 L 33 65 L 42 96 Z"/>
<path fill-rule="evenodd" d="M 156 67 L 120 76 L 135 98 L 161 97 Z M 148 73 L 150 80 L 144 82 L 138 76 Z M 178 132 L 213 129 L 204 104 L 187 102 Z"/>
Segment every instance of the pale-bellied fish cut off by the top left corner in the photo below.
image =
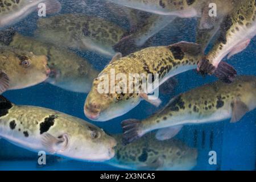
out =
<path fill-rule="evenodd" d="M 51 10 L 58 12 L 61 9 L 57 0 L 0 0 L 0 29 L 26 18 L 36 10 L 39 3 L 46 3 L 48 13 Z"/>

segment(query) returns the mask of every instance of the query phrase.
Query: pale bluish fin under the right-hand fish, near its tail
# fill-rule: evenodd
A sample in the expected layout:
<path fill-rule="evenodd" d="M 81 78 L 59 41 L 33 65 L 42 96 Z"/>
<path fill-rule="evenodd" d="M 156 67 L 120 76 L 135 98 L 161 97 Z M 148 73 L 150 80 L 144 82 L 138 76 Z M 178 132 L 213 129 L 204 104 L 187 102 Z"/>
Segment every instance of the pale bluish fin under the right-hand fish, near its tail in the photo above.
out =
<path fill-rule="evenodd" d="M 179 125 L 179 126 L 165 127 L 164 129 L 159 129 L 155 134 L 155 138 L 160 141 L 171 139 L 180 132 L 182 127 L 183 127 L 182 125 Z"/>

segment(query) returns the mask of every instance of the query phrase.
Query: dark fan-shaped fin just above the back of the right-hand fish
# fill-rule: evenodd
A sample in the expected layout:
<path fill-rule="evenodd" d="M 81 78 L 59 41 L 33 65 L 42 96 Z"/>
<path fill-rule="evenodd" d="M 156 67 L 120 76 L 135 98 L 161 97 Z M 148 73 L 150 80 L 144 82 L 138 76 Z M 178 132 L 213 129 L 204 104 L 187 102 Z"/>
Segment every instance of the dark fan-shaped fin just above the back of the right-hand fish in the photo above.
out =
<path fill-rule="evenodd" d="M 232 67 L 232 65 L 221 61 L 218 64 L 218 68 L 214 72 L 214 75 L 221 81 L 226 83 L 233 82 L 234 78 L 237 76 L 237 71 Z"/>

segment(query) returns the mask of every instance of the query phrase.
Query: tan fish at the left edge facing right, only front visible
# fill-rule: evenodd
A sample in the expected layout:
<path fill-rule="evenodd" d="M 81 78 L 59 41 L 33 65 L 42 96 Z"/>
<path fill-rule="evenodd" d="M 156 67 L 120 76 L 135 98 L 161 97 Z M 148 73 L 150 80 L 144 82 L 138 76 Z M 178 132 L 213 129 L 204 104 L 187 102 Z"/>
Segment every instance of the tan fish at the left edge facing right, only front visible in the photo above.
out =
<path fill-rule="evenodd" d="M 46 56 L 0 47 L 0 94 L 45 81 L 50 73 Z"/>

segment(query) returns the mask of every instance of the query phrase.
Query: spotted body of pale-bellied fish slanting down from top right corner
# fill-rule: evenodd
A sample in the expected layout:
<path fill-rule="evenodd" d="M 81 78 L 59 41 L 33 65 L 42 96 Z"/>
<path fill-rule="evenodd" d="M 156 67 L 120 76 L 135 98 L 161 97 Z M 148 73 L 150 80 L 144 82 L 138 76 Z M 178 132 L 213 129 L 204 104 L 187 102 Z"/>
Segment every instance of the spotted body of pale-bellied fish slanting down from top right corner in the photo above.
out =
<path fill-rule="evenodd" d="M 246 40 L 252 39 L 256 34 L 255 1 L 239 1 L 234 5 L 236 7 L 222 21 L 220 36 L 218 36 L 213 48 L 205 58 L 215 68 L 226 55 Z"/>

